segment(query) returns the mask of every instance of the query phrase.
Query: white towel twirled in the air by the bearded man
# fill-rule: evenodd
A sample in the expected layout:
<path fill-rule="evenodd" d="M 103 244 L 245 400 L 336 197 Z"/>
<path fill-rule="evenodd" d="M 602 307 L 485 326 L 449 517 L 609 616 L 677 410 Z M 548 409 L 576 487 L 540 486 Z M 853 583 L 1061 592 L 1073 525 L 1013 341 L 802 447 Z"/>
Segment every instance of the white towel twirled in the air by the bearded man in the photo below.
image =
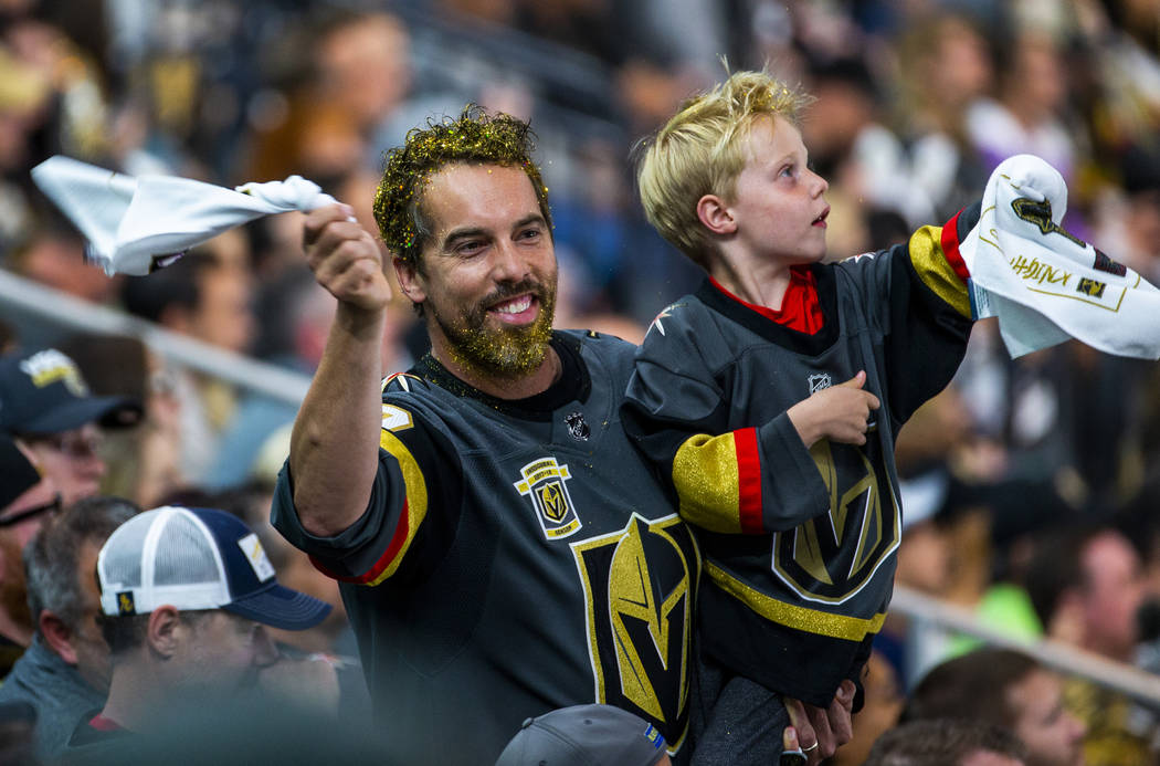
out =
<path fill-rule="evenodd" d="M 168 175 L 132 178 L 60 156 L 34 167 L 32 180 L 88 238 L 89 259 L 109 276 L 148 274 L 260 216 L 334 204 L 299 175 L 233 190 Z"/>

